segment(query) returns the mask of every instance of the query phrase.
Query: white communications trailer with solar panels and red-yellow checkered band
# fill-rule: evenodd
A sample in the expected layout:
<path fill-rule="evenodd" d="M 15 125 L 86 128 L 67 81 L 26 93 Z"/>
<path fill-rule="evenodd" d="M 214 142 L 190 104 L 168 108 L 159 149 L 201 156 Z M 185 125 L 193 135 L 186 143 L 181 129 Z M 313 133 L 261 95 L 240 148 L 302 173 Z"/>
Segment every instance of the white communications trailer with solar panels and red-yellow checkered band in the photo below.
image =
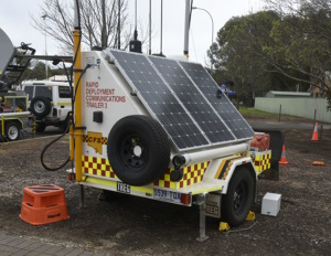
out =
<path fill-rule="evenodd" d="M 70 180 L 196 204 L 199 241 L 205 215 L 244 223 L 258 177 L 278 161 L 250 150 L 255 131 L 201 64 L 113 49 L 76 58 Z"/>

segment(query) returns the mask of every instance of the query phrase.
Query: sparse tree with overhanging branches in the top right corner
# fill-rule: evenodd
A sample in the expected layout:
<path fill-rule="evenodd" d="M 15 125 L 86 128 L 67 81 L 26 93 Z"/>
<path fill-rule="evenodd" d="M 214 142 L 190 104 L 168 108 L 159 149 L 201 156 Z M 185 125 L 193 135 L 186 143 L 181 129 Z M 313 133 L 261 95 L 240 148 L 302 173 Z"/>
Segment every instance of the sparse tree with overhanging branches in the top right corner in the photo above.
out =
<path fill-rule="evenodd" d="M 266 0 L 281 18 L 270 33 L 273 45 L 264 54 L 271 68 L 291 79 L 319 87 L 331 99 L 327 72 L 331 71 L 330 0 Z M 300 75 L 293 75 L 291 72 Z M 302 78 L 303 75 L 303 78 Z"/>

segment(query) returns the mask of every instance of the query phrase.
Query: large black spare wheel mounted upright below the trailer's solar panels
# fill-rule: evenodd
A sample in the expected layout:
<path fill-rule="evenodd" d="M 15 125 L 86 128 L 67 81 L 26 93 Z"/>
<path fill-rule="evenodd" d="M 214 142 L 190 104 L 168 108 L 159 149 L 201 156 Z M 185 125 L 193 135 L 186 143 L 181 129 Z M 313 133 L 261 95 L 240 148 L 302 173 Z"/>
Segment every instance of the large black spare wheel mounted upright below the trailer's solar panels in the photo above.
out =
<path fill-rule="evenodd" d="M 151 117 L 127 116 L 110 130 L 107 156 L 114 172 L 122 182 L 131 185 L 150 184 L 168 169 L 168 136 Z"/>

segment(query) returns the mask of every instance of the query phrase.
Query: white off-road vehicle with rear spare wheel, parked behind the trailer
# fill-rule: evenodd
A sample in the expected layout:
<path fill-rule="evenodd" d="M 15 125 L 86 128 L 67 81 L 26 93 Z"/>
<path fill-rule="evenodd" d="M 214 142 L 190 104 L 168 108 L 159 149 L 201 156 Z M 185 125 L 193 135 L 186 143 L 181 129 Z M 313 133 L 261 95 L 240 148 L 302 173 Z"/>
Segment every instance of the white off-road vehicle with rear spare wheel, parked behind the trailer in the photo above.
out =
<path fill-rule="evenodd" d="M 46 126 L 65 130 L 67 114 L 72 111 L 72 89 L 68 83 L 50 81 L 28 81 L 22 83 L 28 97 L 29 110 L 36 118 L 36 131 Z"/>

